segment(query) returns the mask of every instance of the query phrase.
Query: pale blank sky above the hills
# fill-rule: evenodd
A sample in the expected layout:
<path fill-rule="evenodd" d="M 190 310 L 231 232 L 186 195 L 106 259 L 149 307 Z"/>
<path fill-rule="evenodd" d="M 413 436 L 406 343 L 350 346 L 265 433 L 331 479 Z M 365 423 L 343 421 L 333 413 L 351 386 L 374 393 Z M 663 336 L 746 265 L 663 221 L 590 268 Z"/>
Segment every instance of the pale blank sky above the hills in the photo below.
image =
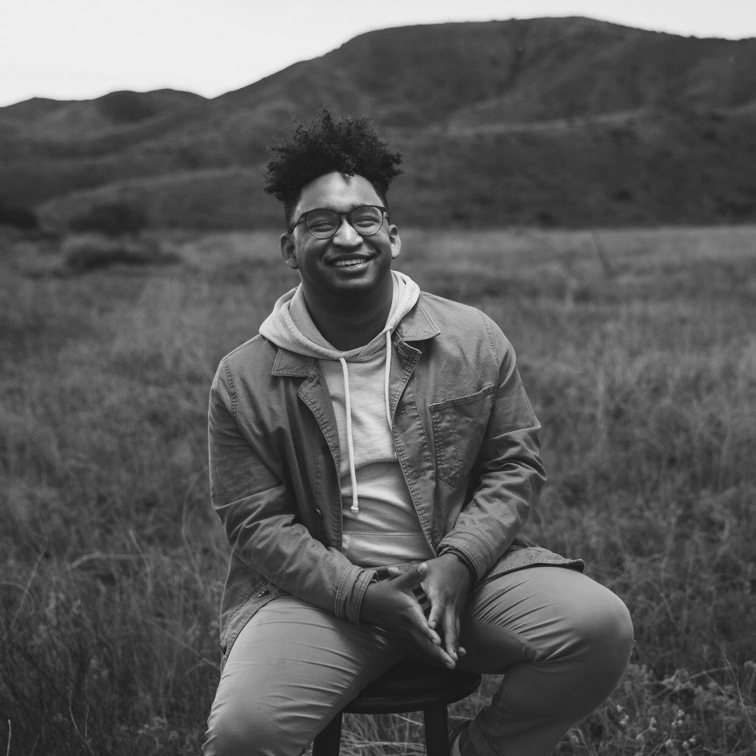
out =
<path fill-rule="evenodd" d="M 0 107 L 173 88 L 216 97 L 372 29 L 588 16 L 756 37 L 754 0 L 0 0 Z"/>

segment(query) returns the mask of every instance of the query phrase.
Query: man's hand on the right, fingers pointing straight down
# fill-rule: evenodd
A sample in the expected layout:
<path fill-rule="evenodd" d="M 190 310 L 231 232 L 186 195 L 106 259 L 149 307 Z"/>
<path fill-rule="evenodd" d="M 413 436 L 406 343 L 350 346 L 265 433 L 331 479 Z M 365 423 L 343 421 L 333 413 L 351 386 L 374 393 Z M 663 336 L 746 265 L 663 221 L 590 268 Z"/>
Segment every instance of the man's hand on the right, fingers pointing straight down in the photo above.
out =
<path fill-rule="evenodd" d="M 470 572 L 453 554 L 442 554 L 426 564 L 428 573 L 423 590 L 430 603 L 428 624 L 433 630 L 440 626 L 446 652 L 457 662 L 465 655 L 465 649 L 459 645 L 460 616 L 467 601 Z"/>

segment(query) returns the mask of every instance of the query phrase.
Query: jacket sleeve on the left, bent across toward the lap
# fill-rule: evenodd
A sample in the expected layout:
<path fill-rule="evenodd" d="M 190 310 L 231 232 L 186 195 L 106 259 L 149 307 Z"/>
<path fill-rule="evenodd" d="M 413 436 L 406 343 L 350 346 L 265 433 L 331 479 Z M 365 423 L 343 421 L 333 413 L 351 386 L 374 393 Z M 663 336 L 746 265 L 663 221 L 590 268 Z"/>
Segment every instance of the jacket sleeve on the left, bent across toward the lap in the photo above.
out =
<path fill-rule="evenodd" d="M 293 496 L 240 431 L 234 405 L 224 360 L 210 390 L 210 495 L 234 555 L 287 593 L 358 622 L 376 573 L 353 565 L 296 521 Z"/>

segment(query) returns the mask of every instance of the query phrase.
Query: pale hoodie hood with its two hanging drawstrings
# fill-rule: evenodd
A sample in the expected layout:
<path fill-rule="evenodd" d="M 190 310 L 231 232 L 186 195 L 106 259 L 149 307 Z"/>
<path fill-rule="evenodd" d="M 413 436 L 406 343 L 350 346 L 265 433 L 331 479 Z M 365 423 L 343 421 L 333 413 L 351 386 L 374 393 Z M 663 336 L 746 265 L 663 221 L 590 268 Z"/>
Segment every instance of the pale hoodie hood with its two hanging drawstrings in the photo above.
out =
<path fill-rule="evenodd" d="M 275 303 L 273 311 L 260 326 L 260 333 L 268 341 L 283 349 L 305 357 L 320 360 L 339 361 L 344 380 L 344 400 L 346 406 L 346 438 L 349 456 L 349 474 L 352 479 L 352 512 L 358 513 L 357 475 L 355 472 L 355 448 L 352 438 L 352 404 L 349 392 L 349 367 L 347 363 L 357 358 L 367 358 L 378 350 L 386 350 L 386 367 L 383 379 L 383 398 L 386 407 L 386 421 L 389 430 L 392 427 L 391 408 L 389 406 L 389 373 L 391 370 L 391 335 L 420 297 L 420 287 L 410 277 L 392 272 L 393 296 L 389 317 L 383 330 L 369 343 L 358 349 L 341 352 L 324 339 L 315 326 L 305 303 L 305 294 L 300 283 L 296 289 L 284 294 Z"/>

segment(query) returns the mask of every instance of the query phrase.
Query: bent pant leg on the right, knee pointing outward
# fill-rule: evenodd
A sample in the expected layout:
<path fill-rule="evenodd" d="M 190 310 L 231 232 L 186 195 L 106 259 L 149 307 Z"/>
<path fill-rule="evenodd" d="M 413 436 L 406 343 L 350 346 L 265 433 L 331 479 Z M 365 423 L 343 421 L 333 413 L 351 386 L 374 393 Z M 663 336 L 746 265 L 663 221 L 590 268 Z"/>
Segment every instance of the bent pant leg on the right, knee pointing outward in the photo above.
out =
<path fill-rule="evenodd" d="M 476 589 L 460 667 L 505 673 L 463 756 L 547 756 L 619 684 L 633 646 L 624 603 L 572 569 L 538 566 Z"/>

